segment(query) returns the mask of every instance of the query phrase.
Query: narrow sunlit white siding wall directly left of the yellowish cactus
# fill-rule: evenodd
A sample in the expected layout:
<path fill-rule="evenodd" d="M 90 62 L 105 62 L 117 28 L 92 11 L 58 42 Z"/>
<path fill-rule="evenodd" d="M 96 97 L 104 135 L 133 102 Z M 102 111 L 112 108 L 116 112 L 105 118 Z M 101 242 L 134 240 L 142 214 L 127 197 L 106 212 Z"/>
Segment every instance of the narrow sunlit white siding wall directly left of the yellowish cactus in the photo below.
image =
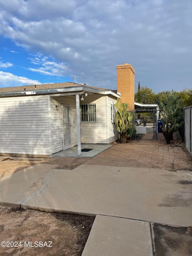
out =
<path fill-rule="evenodd" d="M 108 96 L 108 141 L 109 143 L 117 140 L 117 130 L 111 122 L 111 104 L 115 104 L 117 102 L 116 99 Z"/>

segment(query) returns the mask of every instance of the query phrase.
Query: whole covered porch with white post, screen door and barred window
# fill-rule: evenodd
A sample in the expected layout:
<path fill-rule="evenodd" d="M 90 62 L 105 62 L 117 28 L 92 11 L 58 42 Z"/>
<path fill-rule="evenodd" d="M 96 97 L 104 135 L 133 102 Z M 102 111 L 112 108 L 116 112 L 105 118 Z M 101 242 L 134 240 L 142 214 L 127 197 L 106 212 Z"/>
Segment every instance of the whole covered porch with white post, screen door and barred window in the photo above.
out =
<path fill-rule="evenodd" d="M 110 147 L 108 94 L 116 95 L 87 87 L 75 89 L 49 95 L 52 156 L 92 157 Z"/>

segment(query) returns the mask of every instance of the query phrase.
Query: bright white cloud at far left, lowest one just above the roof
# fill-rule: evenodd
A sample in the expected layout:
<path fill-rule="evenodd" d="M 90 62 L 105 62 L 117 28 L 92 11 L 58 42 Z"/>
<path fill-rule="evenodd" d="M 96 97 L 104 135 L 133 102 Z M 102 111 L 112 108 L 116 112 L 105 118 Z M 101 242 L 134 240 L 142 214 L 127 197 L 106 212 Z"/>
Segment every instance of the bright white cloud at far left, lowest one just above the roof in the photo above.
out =
<path fill-rule="evenodd" d="M 0 87 L 29 85 L 29 84 L 41 84 L 37 80 L 32 80 L 24 76 L 15 76 L 9 72 L 0 71 Z"/>

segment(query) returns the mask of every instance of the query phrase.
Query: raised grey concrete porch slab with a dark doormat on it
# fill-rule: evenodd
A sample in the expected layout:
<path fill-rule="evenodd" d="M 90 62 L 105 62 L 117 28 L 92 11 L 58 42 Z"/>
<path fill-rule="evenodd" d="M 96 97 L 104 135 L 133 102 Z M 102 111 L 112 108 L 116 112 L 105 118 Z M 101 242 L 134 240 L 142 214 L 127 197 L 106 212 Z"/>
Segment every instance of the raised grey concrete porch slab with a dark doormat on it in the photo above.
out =
<path fill-rule="evenodd" d="M 57 152 L 55 154 L 53 154 L 52 156 L 56 157 L 56 156 L 70 156 L 70 157 L 93 157 L 96 156 L 97 154 L 103 152 L 104 150 L 110 148 L 112 145 L 110 144 L 86 144 L 86 143 L 82 143 L 81 144 L 81 148 L 82 150 L 84 149 L 91 149 L 88 152 L 81 152 L 81 156 L 78 156 L 77 153 L 77 146 L 74 146 L 72 148 L 69 148 L 67 150 L 62 150 L 60 152 Z"/>

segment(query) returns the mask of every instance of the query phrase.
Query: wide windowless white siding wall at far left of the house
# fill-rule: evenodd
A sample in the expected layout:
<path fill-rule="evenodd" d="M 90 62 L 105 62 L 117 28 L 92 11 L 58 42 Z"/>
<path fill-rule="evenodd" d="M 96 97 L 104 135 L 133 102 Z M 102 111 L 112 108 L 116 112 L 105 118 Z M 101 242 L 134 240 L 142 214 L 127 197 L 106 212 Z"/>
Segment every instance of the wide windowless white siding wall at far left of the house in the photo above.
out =
<path fill-rule="evenodd" d="M 48 97 L 0 98 L 0 152 L 48 155 L 49 148 Z"/>

